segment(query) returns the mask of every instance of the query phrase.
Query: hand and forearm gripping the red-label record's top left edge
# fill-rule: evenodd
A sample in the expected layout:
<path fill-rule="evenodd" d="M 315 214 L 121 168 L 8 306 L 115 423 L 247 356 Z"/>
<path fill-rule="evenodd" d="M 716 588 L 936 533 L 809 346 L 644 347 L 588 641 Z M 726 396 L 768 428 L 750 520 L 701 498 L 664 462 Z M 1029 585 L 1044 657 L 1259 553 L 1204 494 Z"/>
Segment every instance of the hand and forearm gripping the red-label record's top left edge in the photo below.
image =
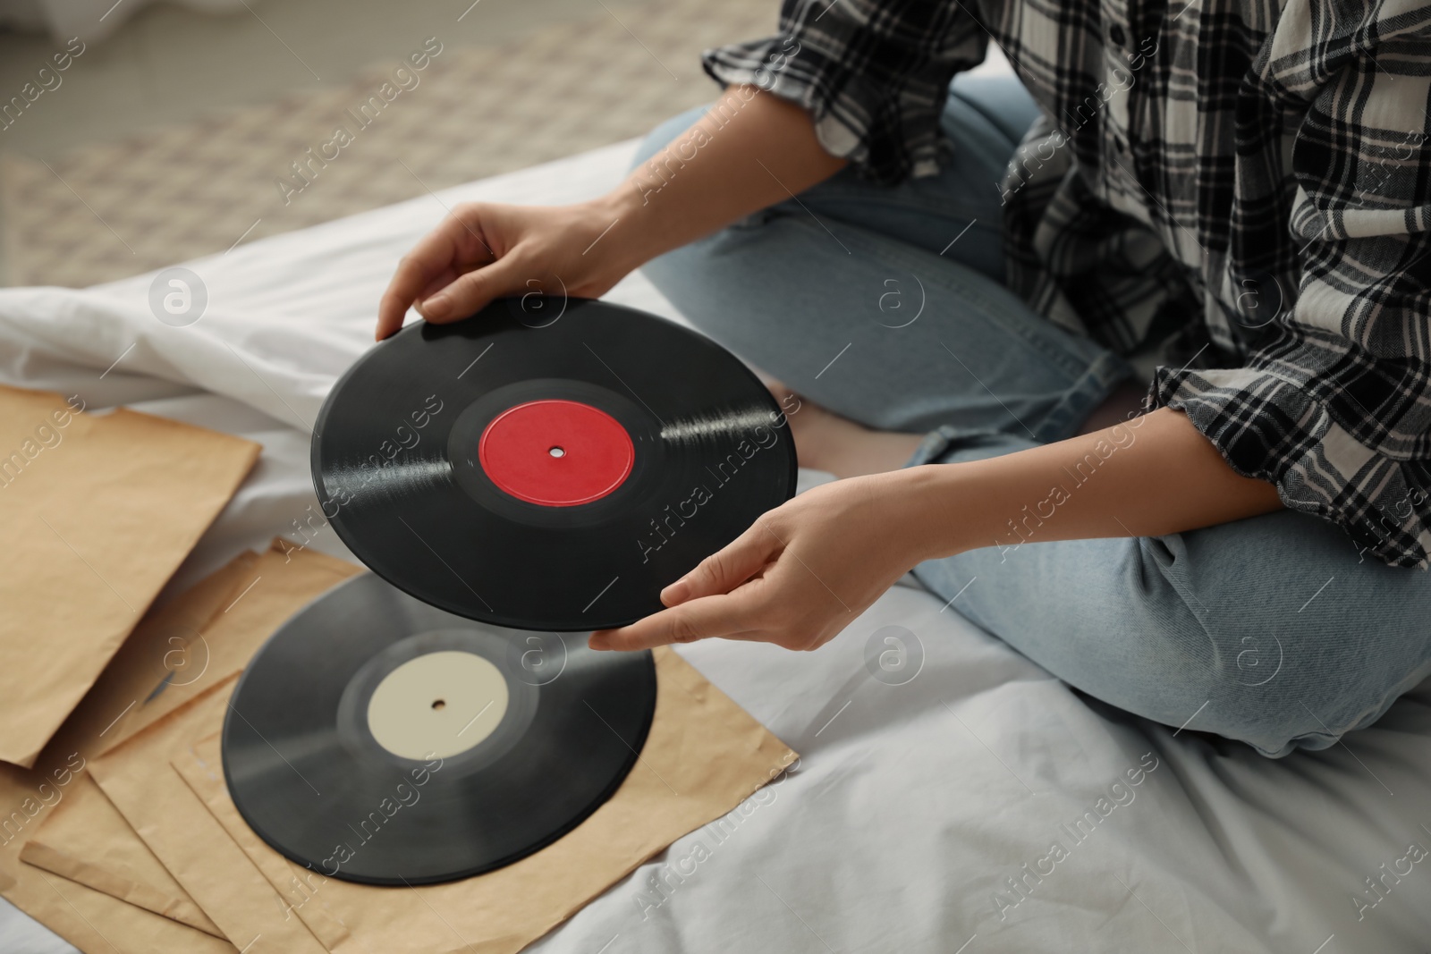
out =
<path fill-rule="evenodd" d="M 454 209 L 398 265 L 378 309 L 378 339 L 402 328 L 414 305 L 429 322 L 455 322 L 507 295 L 597 297 L 650 259 L 843 166 L 800 106 L 731 86 L 713 114 L 601 199 Z"/>

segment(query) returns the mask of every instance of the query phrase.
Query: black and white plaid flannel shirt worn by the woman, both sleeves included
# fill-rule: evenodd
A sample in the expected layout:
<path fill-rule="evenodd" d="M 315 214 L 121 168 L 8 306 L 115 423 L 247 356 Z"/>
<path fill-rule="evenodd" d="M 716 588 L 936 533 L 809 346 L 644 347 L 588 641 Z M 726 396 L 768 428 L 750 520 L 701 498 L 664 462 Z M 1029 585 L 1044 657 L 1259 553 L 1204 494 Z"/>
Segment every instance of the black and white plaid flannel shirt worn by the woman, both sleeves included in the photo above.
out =
<path fill-rule="evenodd" d="M 1118 353 L 1156 345 L 1155 406 L 1427 568 L 1431 6 L 786 0 L 780 29 L 707 72 L 801 104 L 883 183 L 959 147 L 949 83 L 997 43 L 1043 113 L 989 186 L 1009 286 Z"/>

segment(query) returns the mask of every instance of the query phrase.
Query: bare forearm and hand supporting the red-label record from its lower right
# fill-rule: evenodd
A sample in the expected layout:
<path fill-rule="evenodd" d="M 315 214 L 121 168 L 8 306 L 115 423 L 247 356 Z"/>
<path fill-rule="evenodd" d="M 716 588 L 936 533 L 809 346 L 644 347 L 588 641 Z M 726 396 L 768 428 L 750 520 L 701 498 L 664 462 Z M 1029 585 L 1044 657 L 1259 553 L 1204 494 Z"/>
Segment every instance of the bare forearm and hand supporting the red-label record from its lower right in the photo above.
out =
<path fill-rule="evenodd" d="M 668 606 L 591 634 L 592 649 L 707 636 L 816 649 L 904 572 L 976 546 L 1162 536 L 1282 506 L 1232 471 L 1181 410 L 995 458 L 817 486 L 661 591 Z"/>

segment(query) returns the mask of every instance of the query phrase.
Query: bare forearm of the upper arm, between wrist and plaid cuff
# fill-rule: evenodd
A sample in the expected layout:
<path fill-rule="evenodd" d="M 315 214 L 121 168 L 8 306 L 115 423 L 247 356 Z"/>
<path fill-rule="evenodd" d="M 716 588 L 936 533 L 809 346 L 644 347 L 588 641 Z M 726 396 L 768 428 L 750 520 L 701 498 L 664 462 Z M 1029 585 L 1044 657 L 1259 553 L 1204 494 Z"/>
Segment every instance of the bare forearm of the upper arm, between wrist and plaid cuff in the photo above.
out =
<path fill-rule="evenodd" d="M 716 106 L 598 200 L 615 220 L 605 252 L 634 269 L 844 167 L 820 146 L 810 114 L 754 86 Z"/>

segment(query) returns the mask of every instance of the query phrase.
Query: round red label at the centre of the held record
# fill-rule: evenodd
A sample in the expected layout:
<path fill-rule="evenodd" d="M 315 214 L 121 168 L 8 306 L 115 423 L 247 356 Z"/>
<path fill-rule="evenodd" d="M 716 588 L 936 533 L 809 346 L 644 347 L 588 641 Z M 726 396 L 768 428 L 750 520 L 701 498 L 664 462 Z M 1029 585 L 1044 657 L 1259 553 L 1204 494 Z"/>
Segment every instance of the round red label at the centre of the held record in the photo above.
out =
<path fill-rule="evenodd" d="M 487 476 L 519 501 L 542 506 L 591 503 L 621 486 L 635 446 L 621 423 L 578 400 L 529 400 L 482 431 L 477 448 Z"/>

